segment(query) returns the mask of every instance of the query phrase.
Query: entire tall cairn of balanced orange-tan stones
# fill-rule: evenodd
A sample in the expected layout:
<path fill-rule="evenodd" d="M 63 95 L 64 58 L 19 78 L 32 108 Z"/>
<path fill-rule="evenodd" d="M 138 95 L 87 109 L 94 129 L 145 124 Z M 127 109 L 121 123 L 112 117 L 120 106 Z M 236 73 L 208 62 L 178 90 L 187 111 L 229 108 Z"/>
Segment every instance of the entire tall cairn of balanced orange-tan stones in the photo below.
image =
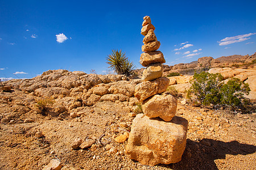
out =
<path fill-rule="evenodd" d="M 157 51 L 154 25 L 144 16 L 141 33 L 144 35 L 140 63 L 146 67 L 142 83 L 135 86 L 134 96 L 142 103 L 142 114 L 137 114 L 131 126 L 126 146 L 130 159 L 144 165 L 177 163 L 185 150 L 188 121 L 177 117 L 177 99 L 166 89 L 169 79 L 162 77 L 165 63 L 163 53 Z"/>

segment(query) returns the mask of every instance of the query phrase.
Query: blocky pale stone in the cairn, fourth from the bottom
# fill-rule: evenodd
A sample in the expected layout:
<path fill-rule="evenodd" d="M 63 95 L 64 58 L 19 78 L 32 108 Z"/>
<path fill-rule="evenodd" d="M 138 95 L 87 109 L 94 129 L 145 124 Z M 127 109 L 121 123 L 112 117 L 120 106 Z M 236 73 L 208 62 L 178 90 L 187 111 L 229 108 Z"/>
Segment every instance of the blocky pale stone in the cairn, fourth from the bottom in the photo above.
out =
<path fill-rule="evenodd" d="M 144 82 L 154 80 L 162 77 L 163 75 L 163 66 L 162 63 L 155 63 L 148 65 L 143 71 L 142 80 Z"/>

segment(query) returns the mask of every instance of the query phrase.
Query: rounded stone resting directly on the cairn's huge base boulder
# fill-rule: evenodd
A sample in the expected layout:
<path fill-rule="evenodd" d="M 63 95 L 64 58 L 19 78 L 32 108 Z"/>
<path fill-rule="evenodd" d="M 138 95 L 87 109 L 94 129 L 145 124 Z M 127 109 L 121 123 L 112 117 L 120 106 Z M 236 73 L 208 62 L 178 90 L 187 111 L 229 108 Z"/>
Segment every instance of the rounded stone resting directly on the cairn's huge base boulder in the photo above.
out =
<path fill-rule="evenodd" d="M 177 109 L 177 99 L 170 94 L 155 95 L 143 103 L 143 113 L 148 117 L 160 117 L 171 121 Z"/>

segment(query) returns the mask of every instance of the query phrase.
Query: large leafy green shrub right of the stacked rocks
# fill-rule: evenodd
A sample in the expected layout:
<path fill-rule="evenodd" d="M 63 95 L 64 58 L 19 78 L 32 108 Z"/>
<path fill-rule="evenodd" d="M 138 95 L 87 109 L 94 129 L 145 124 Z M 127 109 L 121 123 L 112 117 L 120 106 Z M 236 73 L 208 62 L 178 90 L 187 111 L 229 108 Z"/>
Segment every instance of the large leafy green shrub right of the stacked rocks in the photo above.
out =
<path fill-rule="evenodd" d="M 224 84 L 221 82 L 222 79 L 223 77 L 218 73 L 195 73 L 187 97 L 191 98 L 194 95 L 196 100 L 205 107 L 244 109 L 249 103 L 243 97 L 244 94 L 249 94 L 249 84 L 245 84 L 237 78 L 232 78 Z"/>

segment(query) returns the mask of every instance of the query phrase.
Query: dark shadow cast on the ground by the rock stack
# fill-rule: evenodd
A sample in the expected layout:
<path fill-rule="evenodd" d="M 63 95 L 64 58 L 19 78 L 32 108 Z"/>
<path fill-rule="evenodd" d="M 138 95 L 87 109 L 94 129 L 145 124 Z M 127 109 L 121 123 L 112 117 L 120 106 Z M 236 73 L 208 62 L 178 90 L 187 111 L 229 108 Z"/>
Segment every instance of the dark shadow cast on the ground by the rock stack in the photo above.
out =
<path fill-rule="evenodd" d="M 256 152 L 256 146 L 237 141 L 222 142 L 213 139 L 202 139 L 199 142 L 187 139 L 182 159 L 176 164 L 159 164 L 171 169 L 218 169 L 214 160 L 225 159 L 229 155 L 247 155 Z"/>

